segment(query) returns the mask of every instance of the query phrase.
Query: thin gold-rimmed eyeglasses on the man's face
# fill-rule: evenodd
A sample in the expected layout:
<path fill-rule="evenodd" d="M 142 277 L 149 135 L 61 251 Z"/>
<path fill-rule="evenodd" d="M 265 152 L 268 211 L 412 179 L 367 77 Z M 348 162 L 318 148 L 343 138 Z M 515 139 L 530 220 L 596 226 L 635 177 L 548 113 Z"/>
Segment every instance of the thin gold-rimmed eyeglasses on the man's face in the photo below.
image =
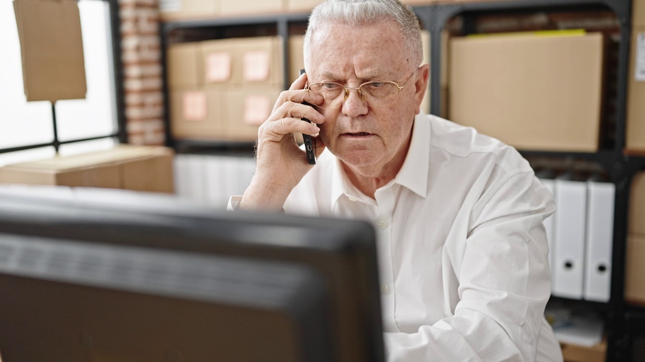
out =
<path fill-rule="evenodd" d="M 304 91 L 314 95 L 316 98 L 322 98 L 323 102 L 317 104 L 320 108 L 337 108 L 347 100 L 350 90 L 359 91 L 361 100 L 370 107 L 385 107 L 394 104 L 399 97 L 399 92 L 412 78 L 414 72 L 410 74 L 408 80 L 402 86 L 395 82 L 388 81 L 369 81 L 358 87 L 346 87 L 342 84 L 333 82 L 313 83 L 304 87 Z"/>

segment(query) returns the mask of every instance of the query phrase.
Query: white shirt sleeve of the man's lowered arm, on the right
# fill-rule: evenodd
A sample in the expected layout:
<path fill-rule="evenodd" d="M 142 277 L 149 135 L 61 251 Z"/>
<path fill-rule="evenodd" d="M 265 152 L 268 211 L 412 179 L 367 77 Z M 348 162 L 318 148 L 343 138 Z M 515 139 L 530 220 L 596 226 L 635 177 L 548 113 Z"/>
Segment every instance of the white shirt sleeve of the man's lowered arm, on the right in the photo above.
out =
<path fill-rule="evenodd" d="M 535 361 L 551 293 L 542 221 L 555 202 L 533 172 L 491 182 L 471 211 L 459 302 L 416 333 L 384 334 L 388 361 Z"/>

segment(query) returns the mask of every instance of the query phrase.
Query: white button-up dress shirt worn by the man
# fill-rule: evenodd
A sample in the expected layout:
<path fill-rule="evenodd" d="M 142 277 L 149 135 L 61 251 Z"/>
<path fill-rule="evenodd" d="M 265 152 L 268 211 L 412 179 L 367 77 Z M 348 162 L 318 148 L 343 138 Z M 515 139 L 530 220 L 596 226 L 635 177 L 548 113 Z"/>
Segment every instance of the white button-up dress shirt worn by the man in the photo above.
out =
<path fill-rule="evenodd" d="M 562 361 L 543 317 L 555 202 L 499 140 L 419 114 L 375 199 L 326 150 L 284 211 L 375 225 L 388 361 Z"/>

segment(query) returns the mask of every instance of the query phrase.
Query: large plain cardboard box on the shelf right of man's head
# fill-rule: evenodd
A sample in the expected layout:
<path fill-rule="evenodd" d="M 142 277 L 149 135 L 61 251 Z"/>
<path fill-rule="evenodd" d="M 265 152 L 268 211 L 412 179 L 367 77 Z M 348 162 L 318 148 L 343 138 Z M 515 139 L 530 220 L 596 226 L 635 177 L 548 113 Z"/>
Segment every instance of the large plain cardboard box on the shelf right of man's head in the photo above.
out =
<path fill-rule="evenodd" d="M 449 117 L 527 150 L 595 152 L 602 33 L 454 37 Z"/>

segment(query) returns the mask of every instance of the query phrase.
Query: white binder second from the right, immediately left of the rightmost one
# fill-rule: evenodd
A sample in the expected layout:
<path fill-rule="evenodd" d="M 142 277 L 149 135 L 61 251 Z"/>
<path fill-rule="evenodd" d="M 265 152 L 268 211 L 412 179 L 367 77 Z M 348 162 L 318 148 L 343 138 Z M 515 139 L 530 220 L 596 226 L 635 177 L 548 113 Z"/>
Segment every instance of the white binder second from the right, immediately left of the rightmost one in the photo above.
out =
<path fill-rule="evenodd" d="M 554 296 L 582 299 L 586 199 L 586 182 L 555 180 Z"/>

